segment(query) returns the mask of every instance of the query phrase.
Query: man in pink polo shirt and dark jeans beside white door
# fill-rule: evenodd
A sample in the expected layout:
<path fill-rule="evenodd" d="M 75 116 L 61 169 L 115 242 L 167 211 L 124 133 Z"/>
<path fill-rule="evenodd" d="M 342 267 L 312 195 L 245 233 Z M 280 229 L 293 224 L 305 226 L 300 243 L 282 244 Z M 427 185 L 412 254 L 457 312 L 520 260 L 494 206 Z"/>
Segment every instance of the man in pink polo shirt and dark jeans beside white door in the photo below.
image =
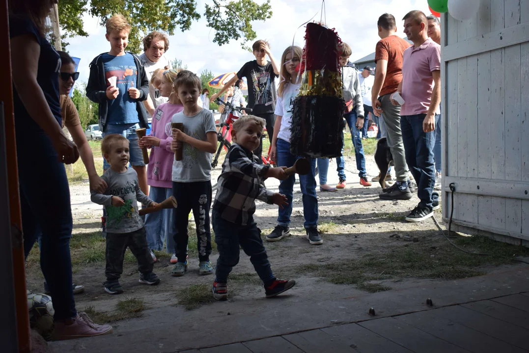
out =
<path fill-rule="evenodd" d="M 417 182 L 421 200 L 406 216 L 408 222 L 421 222 L 439 208 L 435 185 L 435 126 L 441 101 L 441 46 L 428 37 L 428 20 L 421 11 L 411 11 L 403 18 L 404 33 L 413 46 L 404 51 L 402 74 L 397 92 L 402 97 L 400 128 L 406 163 Z M 394 105 L 399 103 L 392 98 Z"/>

